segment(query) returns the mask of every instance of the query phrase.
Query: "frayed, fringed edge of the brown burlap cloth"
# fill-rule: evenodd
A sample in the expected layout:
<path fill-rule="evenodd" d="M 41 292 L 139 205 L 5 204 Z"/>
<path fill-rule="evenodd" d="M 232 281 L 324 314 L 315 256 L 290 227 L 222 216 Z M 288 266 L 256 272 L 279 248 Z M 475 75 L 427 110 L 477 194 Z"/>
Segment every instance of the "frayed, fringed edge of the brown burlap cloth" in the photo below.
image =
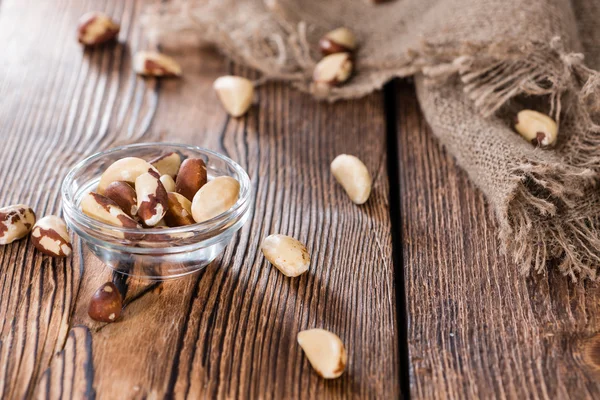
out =
<path fill-rule="evenodd" d="M 260 35 L 245 41 L 233 38 L 214 19 L 200 21 L 179 7 L 161 7 L 145 17 L 152 37 L 193 33 L 202 42 L 215 45 L 234 61 L 263 74 L 257 82 L 284 80 L 317 97 L 330 101 L 360 97 L 381 87 L 370 82 L 352 92 L 315 93 L 310 77 L 315 61 L 306 42 L 308 27 L 279 21 L 282 35 L 265 40 Z M 181 36 L 180 36 L 181 37 Z M 365 68 L 373 66 L 363 65 Z M 361 71 L 360 64 L 357 69 Z M 503 248 L 513 256 L 523 274 L 545 273 L 549 262 L 577 278 L 597 279 L 600 267 L 600 220 L 581 210 L 579 201 L 589 193 L 600 173 L 600 74 L 583 64 L 583 55 L 566 53 L 559 38 L 549 44 L 530 43 L 513 47 L 502 43 L 426 43 L 404 60 L 380 65 L 388 80 L 422 73 L 432 83 L 459 76 L 464 91 L 483 116 L 500 110 L 521 96 L 547 96 L 550 114 L 560 122 L 568 116 L 578 130 L 575 151 L 565 162 L 545 165 L 524 163 L 515 168 L 515 190 L 504 206 L 496 207 Z M 565 104 L 568 105 L 564 110 Z M 589 204 L 589 203 L 585 203 Z M 578 212 L 581 211 L 581 212 Z M 560 216 L 560 217 L 559 217 Z"/>

